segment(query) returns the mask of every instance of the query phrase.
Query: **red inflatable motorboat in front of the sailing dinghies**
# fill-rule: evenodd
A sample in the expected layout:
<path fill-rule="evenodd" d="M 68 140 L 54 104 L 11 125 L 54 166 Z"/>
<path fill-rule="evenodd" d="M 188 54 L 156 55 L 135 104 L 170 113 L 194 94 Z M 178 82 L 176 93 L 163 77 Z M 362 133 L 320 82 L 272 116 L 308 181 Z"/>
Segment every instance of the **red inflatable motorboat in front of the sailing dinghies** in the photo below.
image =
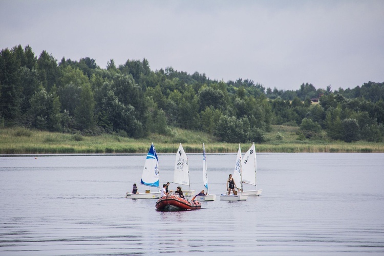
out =
<path fill-rule="evenodd" d="M 194 200 L 189 202 L 179 197 L 179 194 L 172 194 L 157 200 L 156 209 L 163 211 L 198 210 L 201 209 L 201 203 Z"/>

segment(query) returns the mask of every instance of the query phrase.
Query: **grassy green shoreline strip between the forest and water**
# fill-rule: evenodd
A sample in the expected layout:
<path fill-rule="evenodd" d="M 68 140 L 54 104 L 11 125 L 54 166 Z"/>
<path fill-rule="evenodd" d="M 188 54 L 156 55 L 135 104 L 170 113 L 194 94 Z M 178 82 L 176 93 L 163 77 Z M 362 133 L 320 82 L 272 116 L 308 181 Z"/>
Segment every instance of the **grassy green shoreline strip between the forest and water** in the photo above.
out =
<path fill-rule="evenodd" d="M 297 140 L 297 127 L 273 126 L 267 134 L 269 141 L 256 144 L 263 153 L 384 153 L 384 143 L 358 141 Z M 279 136 L 276 136 L 279 134 Z M 279 138 L 277 138 L 279 137 Z M 151 135 L 143 139 L 118 135 L 81 136 L 62 133 L 31 131 L 20 127 L 0 129 L 0 154 L 145 154 L 151 142 L 158 154 L 176 153 L 179 143 L 186 153 L 236 153 L 238 143 L 218 142 L 202 132 L 174 129 L 172 136 Z M 245 151 L 251 143 L 241 143 Z"/>

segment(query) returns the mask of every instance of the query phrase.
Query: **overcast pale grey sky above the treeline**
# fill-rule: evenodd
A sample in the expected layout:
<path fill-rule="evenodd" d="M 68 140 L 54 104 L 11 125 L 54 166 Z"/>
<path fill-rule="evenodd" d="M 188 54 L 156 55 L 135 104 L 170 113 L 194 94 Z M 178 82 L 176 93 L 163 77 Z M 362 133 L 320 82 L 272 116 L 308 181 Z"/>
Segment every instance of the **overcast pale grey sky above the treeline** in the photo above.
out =
<path fill-rule="evenodd" d="M 384 0 L 0 0 L 0 49 L 30 45 L 105 68 L 146 58 L 266 88 L 384 82 Z"/>

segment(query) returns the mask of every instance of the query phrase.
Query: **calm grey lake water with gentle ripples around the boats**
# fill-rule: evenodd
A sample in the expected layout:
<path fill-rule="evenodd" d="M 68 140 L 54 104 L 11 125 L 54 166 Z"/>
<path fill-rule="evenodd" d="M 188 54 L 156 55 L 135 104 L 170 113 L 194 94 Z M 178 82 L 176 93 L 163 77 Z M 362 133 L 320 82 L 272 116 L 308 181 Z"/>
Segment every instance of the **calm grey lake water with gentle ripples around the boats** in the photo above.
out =
<path fill-rule="evenodd" d="M 187 155 L 201 190 L 202 156 Z M 160 183 L 172 182 L 174 155 L 159 160 Z M 0 157 L 0 255 L 384 254 L 384 154 L 258 154 L 261 197 L 184 212 L 124 197 L 144 161 Z M 207 155 L 211 194 L 224 193 L 235 161 Z"/>

